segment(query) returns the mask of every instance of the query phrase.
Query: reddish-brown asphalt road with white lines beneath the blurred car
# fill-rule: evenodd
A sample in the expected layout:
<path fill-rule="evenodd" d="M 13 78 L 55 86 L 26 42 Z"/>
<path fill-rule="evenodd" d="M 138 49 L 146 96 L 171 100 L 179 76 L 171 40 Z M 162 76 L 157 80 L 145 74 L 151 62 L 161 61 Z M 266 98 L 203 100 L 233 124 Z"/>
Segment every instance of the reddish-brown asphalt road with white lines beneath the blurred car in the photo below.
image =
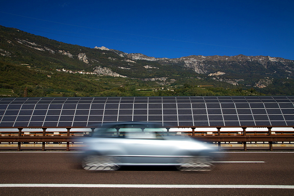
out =
<path fill-rule="evenodd" d="M 208 172 L 87 171 L 77 154 L 0 152 L 0 195 L 294 195 L 293 151 L 216 152 L 216 168 Z"/>

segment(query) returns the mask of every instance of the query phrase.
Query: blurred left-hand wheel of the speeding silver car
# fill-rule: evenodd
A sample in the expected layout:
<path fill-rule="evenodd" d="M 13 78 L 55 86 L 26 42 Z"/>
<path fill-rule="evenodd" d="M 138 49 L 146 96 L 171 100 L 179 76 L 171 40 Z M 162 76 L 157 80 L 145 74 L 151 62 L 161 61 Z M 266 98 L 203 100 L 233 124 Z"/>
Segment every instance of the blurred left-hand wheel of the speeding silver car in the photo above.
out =
<path fill-rule="evenodd" d="M 120 166 L 116 157 L 88 155 L 82 161 L 85 170 L 118 170 Z"/>

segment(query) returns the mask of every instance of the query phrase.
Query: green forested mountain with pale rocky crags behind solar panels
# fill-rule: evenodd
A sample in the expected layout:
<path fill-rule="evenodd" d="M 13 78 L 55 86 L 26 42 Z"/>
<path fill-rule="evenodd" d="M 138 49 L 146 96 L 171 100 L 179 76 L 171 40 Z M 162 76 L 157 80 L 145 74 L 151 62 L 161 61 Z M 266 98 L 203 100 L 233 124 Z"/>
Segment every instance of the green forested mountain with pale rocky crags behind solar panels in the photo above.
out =
<path fill-rule="evenodd" d="M 104 46 L 87 48 L 71 45 L 4 26 L 0 26 L 0 65 L 0 85 L 3 92 L 9 89 L 9 85 L 17 91 L 12 92 L 11 96 L 21 96 L 20 89 L 24 87 L 43 91 L 53 88 L 56 92 L 45 92 L 42 96 L 66 93 L 105 96 L 103 92 L 123 92 L 119 87 L 126 88 L 130 85 L 132 92 L 122 93 L 121 96 L 151 96 L 150 93 L 158 96 L 160 92 L 163 93 L 162 96 L 191 95 L 192 92 L 193 96 L 201 93 L 238 95 L 235 93 L 247 89 L 250 89 L 246 91 L 247 95 L 294 94 L 293 60 L 245 55 L 154 58 L 140 53 L 128 54 Z M 68 78 L 66 86 L 62 85 L 64 83 L 58 84 L 60 77 Z M 30 78 L 36 78 L 35 82 L 30 83 Z M 73 78 L 79 82 L 70 84 L 69 81 Z M 41 87 L 37 88 L 40 83 Z M 91 91 L 91 88 L 94 90 Z M 180 88 L 182 89 L 179 90 Z M 226 89 L 232 89 L 232 92 L 226 92 Z M 66 93 L 60 92 L 62 90 Z M 130 88 L 124 90 L 127 92 Z M 34 95 L 32 91 L 30 95 Z M 3 92 L 0 91 L 0 96 Z"/>

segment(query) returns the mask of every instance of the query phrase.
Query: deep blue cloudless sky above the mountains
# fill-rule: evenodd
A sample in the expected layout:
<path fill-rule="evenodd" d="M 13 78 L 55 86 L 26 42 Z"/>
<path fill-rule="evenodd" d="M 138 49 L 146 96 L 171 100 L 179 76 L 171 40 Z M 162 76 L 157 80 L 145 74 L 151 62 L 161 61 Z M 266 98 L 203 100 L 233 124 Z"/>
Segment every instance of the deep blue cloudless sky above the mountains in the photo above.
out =
<path fill-rule="evenodd" d="M 294 1 L 3 1 L 0 25 L 65 43 L 156 58 L 294 60 Z"/>

